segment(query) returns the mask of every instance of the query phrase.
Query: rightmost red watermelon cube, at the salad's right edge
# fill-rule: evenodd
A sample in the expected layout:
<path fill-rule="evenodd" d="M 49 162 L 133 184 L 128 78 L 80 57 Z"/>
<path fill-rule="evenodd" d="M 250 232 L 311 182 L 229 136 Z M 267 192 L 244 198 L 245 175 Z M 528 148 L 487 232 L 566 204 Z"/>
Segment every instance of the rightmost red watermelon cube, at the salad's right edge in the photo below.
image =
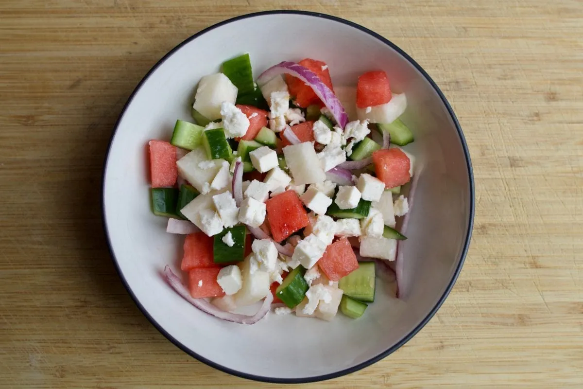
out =
<path fill-rule="evenodd" d="M 401 149 L 375 151 L 373 163 L 377 178 L 385 183 L 385 188 L 405 185 L 411 179 L 409 157 Z"/>

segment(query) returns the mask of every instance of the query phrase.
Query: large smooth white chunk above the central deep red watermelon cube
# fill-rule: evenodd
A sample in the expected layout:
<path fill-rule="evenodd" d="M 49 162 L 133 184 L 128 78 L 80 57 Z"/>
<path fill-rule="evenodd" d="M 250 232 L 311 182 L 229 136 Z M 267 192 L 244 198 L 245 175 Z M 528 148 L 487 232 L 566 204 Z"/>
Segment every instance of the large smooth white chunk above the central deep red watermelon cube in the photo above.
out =
<path fill-rule="evenodd" d="M 311 142 L 283 148 L 287 167 L 296 185 L 315 184 L 326 180 L 318 155 Z"/>

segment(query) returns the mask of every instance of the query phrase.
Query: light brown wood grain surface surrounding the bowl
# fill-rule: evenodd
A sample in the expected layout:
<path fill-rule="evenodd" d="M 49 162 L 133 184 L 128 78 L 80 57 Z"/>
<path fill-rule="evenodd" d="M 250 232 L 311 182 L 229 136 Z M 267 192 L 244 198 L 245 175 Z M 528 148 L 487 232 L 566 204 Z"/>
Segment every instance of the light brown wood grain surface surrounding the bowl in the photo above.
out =
<path fill-rule="evenodd" d="M 363 24 L 441 86 L 469 144 L 472 245 L 398 352 L 314 388 L 583 387 L 583 3 L 0 2 L 0 386 L 277 387 L 212 369 L 132 303 L 101 229 L 115 120 L 160 57 L 265 9 Z"/>

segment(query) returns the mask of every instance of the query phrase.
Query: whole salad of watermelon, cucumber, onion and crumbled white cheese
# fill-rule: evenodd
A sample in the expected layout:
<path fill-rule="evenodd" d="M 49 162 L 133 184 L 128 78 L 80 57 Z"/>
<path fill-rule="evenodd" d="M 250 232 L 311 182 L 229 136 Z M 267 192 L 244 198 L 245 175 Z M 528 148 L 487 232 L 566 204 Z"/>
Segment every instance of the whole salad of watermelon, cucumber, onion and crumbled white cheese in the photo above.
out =
<path fill-rule="evenodd" d="M 349 118 L 354 102 L 343 105 L 328 66 L 310 58 L 254 80 L 245 54 L 199 80 L 196 124 L 177 120 L 170 142 L 149 142 L 153 213 L 185 236 L 187 285 L 164 269 L 177 293 L 253 324 L 272 308 L 358 318 L 378 283 L 395 282 L 409 209 L 401 188 L 415 164 L 400 147 L 413 142 L 399 119 L 407 100 L 383 71 L 361 75 L 354 94 Z M 235 313 L 259 302 L 252 316 Z"/>

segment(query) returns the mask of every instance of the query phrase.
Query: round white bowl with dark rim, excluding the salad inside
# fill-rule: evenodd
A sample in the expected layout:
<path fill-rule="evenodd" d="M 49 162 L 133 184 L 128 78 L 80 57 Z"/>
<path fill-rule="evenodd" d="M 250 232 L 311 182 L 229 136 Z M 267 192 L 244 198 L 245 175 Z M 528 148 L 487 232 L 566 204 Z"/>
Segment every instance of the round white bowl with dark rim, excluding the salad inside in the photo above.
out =
<path fill-rule="evenodd" d="M 191 120 L 198 80 L 249 52 L 255 76 L 280 61 L 316 58 L 335 87 L 354 86 L 371 69 L 406 92 L 415 132 L 419 184 L 403 246 L 408 290 L 396 300 L 377 288 L 359 320 L 269 315 L 255 325 L 227 323 L 192 307 L 161 276 L 178 272 L 181 237 L 150 212 L 146 144 L 170 139 L 176 119 Z M 437 54 L 436 54 L 437 55 Z M 269 11 L 215 24 L 188 38 L 150 70 L 117 122 L 103 177 L 104 226 L 129 294 L 152 324 L 196 359 L 224 372 L 276 383 L 331 379 L 385 358 L 413 337 L 444 302 L 462 267 L 474 211 L 468 148 L 444 95 L 413 59 L 373 31 L 328 15 Z"/>

